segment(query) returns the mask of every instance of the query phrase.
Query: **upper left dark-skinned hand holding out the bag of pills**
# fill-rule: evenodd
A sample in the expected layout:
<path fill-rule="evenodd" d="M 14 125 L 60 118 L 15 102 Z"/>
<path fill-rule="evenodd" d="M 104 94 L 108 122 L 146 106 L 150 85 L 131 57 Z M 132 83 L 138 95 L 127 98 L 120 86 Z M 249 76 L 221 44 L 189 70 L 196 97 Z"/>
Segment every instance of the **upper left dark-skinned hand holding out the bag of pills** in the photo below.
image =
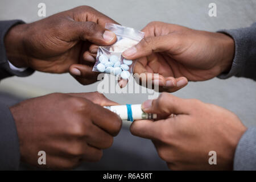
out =
<path fill-rule="evenodd" d="M 94 60 L 84 61 L 92 43 L 109 46 L 116 41 L 105 23 L 115 23 L 89 6 L 64 11 L 38 22 L 19 24 L 5 36 L 9 61 L 48 73 L 70 72 L 81 84 L 97 81 Z"/>

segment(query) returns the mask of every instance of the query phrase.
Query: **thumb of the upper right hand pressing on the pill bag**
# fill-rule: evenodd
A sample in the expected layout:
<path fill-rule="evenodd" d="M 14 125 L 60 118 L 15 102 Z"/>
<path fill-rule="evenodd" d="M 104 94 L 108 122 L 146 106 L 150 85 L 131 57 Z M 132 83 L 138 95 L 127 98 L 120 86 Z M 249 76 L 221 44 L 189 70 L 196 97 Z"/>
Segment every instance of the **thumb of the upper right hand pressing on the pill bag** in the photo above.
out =
<path fill-rule="evenodd" d="M 153 52 L 164 52 L 174 46 L 176 40 L 170 35 L 150 36 L 141 40 L 137 45 L 123 52 L 123 57 L 134 60 L 151 55 Z"/>

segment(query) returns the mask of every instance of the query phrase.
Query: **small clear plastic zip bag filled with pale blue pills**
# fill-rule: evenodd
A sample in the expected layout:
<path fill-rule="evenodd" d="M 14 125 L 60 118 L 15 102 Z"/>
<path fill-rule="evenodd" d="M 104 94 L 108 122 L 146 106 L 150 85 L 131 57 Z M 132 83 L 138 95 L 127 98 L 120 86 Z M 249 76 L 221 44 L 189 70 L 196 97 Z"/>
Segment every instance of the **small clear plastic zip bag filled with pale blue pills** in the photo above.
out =
<path fill-rule="evenodd" d="M 117 42 L 112 46 L 100 46 L 98 48 L 93 71 L 114 74 L 127 79 L 130 73 L 133 73 L 135 61 L 124 59 L 122 53 L 138 44 L 143 39 L 144 32 L 114 23 L 106 23 L 105 28 L 115 33 Z"/>

